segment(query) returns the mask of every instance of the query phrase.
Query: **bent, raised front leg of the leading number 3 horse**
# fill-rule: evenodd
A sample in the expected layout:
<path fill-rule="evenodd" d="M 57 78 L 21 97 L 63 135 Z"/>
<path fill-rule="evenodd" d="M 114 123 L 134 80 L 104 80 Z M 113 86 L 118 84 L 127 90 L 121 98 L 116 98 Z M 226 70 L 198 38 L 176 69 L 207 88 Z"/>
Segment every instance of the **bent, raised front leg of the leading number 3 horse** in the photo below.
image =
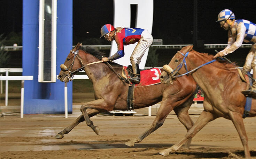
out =
<path fill-rule="evenodd" d="M 99 127 L 93 125 L 93 122 L 90 120 L 90 117 L 88 116 L 88 114 L 86 112 L 86 109 L 88 109 L 88 108 L 90 108 L 90 109 L 97 109 L 100 112 L 104 112 L 104 111 L 111 111 L 111 110 L 113 110 L 114 106 L 113 107 L 108 106 L 104 99 L 93 100 L 93 101 L 85 103 L 85 104 L 83 104 L 81 106 L 80 111 L 83 113 L 83 116 L 84 116 L 86 124 L 88 126 L 90 126 L 92 128 L 92 130 L 97 135 L 99 135 L 99 131 L 100 131 Z"/>

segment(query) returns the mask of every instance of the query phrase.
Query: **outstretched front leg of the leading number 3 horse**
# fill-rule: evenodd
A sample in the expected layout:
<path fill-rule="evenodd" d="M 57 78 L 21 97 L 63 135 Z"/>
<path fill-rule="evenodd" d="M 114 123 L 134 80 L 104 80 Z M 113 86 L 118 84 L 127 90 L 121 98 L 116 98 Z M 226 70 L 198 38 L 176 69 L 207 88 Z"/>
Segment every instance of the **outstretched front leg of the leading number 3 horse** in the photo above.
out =
<path fill-rule="evenodd" d="M 89 117 L 92 117 L 94 115 L 99 114 L 100 111 L 96 110 L 96 109 L 87 109 L 87 114 L 89 115 Z M 55 138 L 56 139 L 62 139 L 64 137 L 64 134 L 68 134 L 74 127 L 76 127 L 79 123 L 85 121 L 84 119 L 84 115 L 80 115 L 79 117 L 76 118 L 76 120 L 69 125 L 68 127 L 66 127 L 64 130 L 62 130 L 61 132 L 59 132 Z"/>

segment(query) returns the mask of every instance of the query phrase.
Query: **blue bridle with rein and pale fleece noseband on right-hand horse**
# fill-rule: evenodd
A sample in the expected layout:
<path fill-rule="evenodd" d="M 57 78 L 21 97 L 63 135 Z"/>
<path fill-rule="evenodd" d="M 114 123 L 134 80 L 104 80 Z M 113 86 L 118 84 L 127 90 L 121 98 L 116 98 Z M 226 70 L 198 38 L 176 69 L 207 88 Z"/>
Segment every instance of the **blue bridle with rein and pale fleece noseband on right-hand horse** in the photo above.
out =
<path fill-rule="evenodd" d="M 207 62 L 207 63 L 204 63 L 204 64 L 202 64 L 202 65 L 200 65 L 200 66 L 194 68 L 194 69 L 191 70 L 191 71 L 188 71 L 188 70 L 187 70 L 186 58 L 187 58 L 187 56 L 188 56 L 189 51 L 186 52 L 185 55 L 184 55 L 182 52 L 180 52 L 180 51 L 178 51 L 178 53 L 180 53 L 181 55 L 183 55 L 184 58 L 183 58 L 182 62 L 177 66 L 176 69 L 174 69 L 172 72 L 168 73 L 170 79 L 176 79 L 176 78 L 181 77 L 181 76 L 184 76 L 184 75 L 187 75 L 187 76 L 188 76 L 188 73 L 194 72 L 194 71 L 196 71 L 197 69 L 203 67 L 204 65 L 207 65 L 207 64 L 210 64 L 210 63 L 216 61 L 216 59 L 214 59 L 214 60 L 212 60 L 212 61 L 209 61 L 209 62 Z M 179 70 L 181 69 L 181 67 L 182 67 L 183 64 L 184 64 L 184 66 L 185 66 L 186 73 L 176 75 L 176 74 L 179 72 Z M 166 71 L 166 70 L 165 70 L 165 71 Z M 166 71 L 166 72 L 168 72 L 168 71 Z"/>

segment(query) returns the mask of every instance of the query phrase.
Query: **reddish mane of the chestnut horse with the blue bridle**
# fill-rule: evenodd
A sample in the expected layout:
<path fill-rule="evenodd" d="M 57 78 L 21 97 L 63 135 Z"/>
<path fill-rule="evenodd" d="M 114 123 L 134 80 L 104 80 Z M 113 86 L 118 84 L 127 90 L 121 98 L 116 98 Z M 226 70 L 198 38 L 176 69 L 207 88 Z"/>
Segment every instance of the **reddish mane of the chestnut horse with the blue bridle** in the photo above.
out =
<path fill-rule="evenodd" d="M 193 50 L 194 51 L 194 50 Z M 195 51 L 196 52 L 196 51 Z M 211 61 L 211 60 L 213 60 L 214 58 L 214 55 L 211 55 L 211 54 L 208 54 L 208 53 L 200 53 L 200 52 L 196 52 L 196 53 L 199 53 L 200 55 L 202 55 L 204 58 L 206 58 L 206 59 L 208 59 L 208 61 Z M 229 69 L 229 68 L 235 68 L 235 67 L 238 67 L 237 65 L 236 65 L 236 63 L 235 62 L 233 62 L 233 63 L 229 63 L 228 61 L 226 61 L 226 60 L 222 60 L 222 59 L 220 59 L 220 58 L 217 58 L 217 60 L 216 61 L 218 61 L 219 63 L 217 64 L 217 66 L 218 67 L 223 67 L 223 68 L 227 68 L 227 69 Z"/>

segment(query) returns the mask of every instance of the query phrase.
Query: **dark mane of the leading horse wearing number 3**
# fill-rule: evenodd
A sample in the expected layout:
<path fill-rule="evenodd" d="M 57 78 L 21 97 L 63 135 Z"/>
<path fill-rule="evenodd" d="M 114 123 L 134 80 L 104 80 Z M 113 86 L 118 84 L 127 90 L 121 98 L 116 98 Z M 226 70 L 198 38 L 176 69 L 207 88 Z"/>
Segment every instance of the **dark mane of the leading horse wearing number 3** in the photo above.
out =
<path fill-rule="evenodd" d="M 99 50 L 93 48 L 93 47 L 90 46 L 90 45 L 85 45 L 85 46 L 83 45 L 83 46 L 80 46 L 80 47 L 79 47 L 79 50 L 83 50 L 83 51 L 85 51 L 85 52 L 87 52 L 87 53 L 89 53 L 89 54 L 95 56 L 95 58 L 97 58 L 97 59 L 99 59 L 99 60 L 102 59 L 102 56 L 103 56 L 103 57 L 106 57 L 106 53 L 105 53 L 105 52 L 99 51 Z M 119 64 L 117 64 L 117 63 L 115 63 L 115 62 L 108 61 L 108 63 L 111 64 L 111 65 L 114 66 L 114 67 L 123 67 L 122 65 L 119 65 Z"/>

